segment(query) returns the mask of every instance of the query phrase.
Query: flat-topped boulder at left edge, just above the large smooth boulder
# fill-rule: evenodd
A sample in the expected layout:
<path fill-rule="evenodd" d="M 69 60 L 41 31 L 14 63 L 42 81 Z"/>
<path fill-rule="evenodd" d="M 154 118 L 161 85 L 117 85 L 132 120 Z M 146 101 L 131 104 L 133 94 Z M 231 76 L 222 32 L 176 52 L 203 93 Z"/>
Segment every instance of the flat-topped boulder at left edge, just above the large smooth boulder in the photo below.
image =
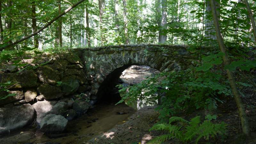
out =
<path fill-rule="evenodd" d="M 9 92 L 1 93 L 0 95 L 4 96 L 4 95 L 8 95 L 8 94 L 15 94 L 15 96 L 8 96 L 5 99 L 1 99 L 0 105 L 24 99 L 24 94 L 22 91 L 21 92 L 20 91 L 9 91 Z"/>

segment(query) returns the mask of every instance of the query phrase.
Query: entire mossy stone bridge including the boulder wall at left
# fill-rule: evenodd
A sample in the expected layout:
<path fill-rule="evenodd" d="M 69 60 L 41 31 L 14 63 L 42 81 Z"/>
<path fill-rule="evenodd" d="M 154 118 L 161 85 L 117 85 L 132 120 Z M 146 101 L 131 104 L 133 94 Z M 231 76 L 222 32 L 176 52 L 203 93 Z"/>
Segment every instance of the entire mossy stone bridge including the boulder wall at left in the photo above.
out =
<path fill-rule="evenodd" d="M 27 56 L 22 71 L 10 65 L 11 61 L 1 63 L 0 83 L 11 85 L 8 91 L 0 91 L 0 96 L 11 96 L 0 99 L 0 136 L 34 120 L 46 133 L 62 132 L 68 120 L 86 113 L 101 97 L 110 99 L 108 92 L 129 66 L 179 71 L 192 64 L 193 55 L 188 46 L 140 44 Z M 49 125 L 48 120 L 55 120 L 54 124 Z"/>

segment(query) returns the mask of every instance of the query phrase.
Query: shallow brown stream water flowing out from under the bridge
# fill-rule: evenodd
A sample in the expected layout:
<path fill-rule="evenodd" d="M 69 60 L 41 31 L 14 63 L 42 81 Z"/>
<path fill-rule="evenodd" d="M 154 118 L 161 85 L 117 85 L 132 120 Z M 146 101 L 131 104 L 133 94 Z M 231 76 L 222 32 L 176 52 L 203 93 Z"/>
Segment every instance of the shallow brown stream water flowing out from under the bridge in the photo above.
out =
<path fill-rule="evenodd" d="M 36 131 L 35 127 L 32 127 L 1 138 L 0 143 L 86 143 L 88 140 L 96 137 L 98 134 L 107 132 L 116 124 L 124 123 L 129 116 L 135 113 L 135 111 L 135 109 L 125 104 L 118 104 L 116 106 L 114 104 L 100 104 L 88 110 L 86 115 L 80 116 L 75 120 L 68 122 L 67 131 L 64 133 L 66 136 L 64 137 L 50 139 L 42 132 Z M 116 112 L 125 112 L 127 114 L 118 115 Z M 93 122 L 93 119 L 98 120 Z"/>

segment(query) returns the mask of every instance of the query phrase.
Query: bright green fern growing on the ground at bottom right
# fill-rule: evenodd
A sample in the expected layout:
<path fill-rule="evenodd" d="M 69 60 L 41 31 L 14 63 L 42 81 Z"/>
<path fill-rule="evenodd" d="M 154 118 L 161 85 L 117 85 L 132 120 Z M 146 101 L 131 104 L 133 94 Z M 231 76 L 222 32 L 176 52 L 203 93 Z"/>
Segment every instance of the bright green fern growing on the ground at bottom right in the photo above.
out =
<path fill-rule="evenodd" d="M 173 125 L 172 123 L 174 122 L 177 122 L 177 124 Z M 201 138 L 209 140 L 210 137 L 214 138 L 217 134 L 225 134 L 226 124 L 224 122 L 214 124 L 209 119 L 201 123 L 200 116 L 196 116 L 190 121 L 181 117 L 172 116 L 169 119 L 169 124 L 155 124 L 149 129 L 149 131 L 152 130 L 166 131 L 167 134 L 158 136 L 149 143 L 163 143 L 170 139 L 178 139 L 182 143 L 191 141 L 198 143 Z"/>

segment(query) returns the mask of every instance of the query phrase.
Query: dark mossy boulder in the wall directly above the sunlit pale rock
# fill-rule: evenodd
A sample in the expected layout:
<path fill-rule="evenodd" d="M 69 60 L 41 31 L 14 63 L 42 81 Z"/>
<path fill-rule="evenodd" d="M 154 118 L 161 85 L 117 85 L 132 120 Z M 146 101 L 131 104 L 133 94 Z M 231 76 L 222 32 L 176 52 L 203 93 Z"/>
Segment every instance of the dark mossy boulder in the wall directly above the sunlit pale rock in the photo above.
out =
<path fill-rule="evenodd" d="M 52 86 L 50 84 L 41 84 L 37 88 L 37 91 L 45 100 L 57 99 L 63 96 L 63 93 L 58 86 Z"/>

